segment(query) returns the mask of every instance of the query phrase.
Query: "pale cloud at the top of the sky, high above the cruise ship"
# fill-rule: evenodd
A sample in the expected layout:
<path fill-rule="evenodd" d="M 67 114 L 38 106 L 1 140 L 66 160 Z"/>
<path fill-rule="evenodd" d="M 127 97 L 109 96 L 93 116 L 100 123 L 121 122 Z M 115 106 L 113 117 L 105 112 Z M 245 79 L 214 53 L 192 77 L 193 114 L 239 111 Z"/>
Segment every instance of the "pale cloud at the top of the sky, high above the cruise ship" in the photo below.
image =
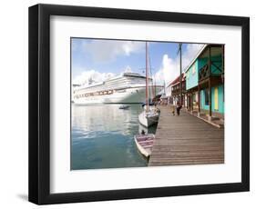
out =
<path fill-rule="evenodd" d="M 84 42 L 85 52 L 92 55 L 96 62 L 110 62 L 116 60 L 119 55 L 130 55 L 145 50 L 145 44 L 135 41 L 93 40 Z"/>

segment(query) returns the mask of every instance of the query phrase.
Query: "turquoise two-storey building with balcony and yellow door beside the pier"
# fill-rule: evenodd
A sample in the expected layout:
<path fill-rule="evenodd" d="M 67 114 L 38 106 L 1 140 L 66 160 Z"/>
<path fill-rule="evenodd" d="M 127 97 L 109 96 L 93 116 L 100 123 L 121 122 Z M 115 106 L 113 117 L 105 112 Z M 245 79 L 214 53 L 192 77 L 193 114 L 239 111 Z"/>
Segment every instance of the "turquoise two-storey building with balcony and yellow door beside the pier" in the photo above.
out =
<path fill-rule="evenodd" d="M 187 67 L 187 108 L 199 114 L 224 114 L 224 45 L 204 45 Z"/>

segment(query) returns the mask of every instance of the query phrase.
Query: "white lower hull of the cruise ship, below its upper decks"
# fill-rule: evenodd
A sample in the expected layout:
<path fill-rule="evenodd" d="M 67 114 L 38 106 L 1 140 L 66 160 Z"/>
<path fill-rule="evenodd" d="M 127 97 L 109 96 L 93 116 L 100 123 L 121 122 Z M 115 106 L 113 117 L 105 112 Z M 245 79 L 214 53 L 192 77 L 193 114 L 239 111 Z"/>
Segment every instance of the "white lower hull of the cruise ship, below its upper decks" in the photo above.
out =
<path fill-rule="evenodd" d="M 145 86 L 115 90 L 111 95 L 74 98 L 75 104 L 139 104 L 146 101 Z M 159 92 L 160 87 L 157 87 Z"/>

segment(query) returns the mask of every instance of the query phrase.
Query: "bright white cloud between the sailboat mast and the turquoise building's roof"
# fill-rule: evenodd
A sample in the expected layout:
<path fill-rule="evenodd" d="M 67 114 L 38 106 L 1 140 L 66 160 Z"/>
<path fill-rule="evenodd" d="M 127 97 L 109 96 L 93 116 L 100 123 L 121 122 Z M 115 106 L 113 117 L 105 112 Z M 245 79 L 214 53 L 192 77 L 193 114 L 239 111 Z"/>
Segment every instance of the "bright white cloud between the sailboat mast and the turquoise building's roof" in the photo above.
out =
<path fill-rule="evenodd" d="M 189 44 L 185 52 L 182 53 L 182 70 L 184 70 L 193 58 L 199 53 L 203 45 Z M 154 75 L 156 83 L 169 85 L 179 75 L 179 55 L 175 59 L 171 59 L 168 55 L 163 55 L 162 66 L 159 71 Z"/>

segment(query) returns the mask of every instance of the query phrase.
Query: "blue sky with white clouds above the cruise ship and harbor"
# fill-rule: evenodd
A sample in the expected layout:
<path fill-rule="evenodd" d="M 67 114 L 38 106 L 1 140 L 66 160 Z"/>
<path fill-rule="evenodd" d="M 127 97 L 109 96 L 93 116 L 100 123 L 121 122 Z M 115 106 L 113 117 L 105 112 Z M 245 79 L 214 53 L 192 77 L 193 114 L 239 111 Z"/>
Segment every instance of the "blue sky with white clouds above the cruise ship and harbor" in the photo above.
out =
<path fill-rule="evenodd" d="M 203 45 L 182 44 L 182 68 L 189 65 Z M 179 75 L 179 44 L 148 42 L 151 76 L 158 85 L 169 85 Z M 108 39 L 71 39 L 72 84 L 101 82 L 124 72 L 145 75 L 146 43 Z"/>

